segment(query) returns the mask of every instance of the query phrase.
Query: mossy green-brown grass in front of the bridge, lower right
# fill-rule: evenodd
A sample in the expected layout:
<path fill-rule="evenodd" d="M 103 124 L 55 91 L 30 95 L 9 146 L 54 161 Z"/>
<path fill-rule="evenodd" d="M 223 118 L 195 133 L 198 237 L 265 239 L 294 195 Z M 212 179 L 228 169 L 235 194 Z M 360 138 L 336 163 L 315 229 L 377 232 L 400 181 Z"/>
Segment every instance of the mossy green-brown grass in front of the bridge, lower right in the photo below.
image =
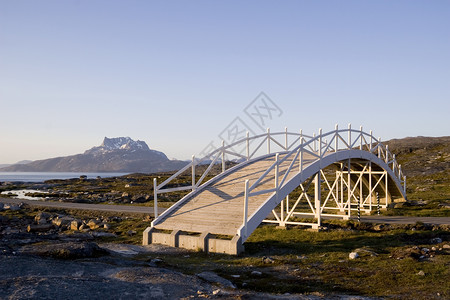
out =
<path fill-rule="evenodd" d="M 242 256 L 193 252 L 158 257 L 167 267 L 189 274 L 213 270 L 240 288 L 261 292 L 345 293 L 403 299 L 433 299 L 439 298 L 439 293 L 446 298 L 450 296 L 450 251 L 437 250 L 427 259 L 399 259 L 413 246 L 431 249 L 430 241 L 435 237 L 448 241 L 450 233 L 412 228 L 311 232 L 262 226 L 245 243 Z M 358 248 L 374 254 L 364 255 L 363 251 L 359 258 L 350 260 L 349 253 Z M 420 271 L 425 275 L 417 275 Z"/>

